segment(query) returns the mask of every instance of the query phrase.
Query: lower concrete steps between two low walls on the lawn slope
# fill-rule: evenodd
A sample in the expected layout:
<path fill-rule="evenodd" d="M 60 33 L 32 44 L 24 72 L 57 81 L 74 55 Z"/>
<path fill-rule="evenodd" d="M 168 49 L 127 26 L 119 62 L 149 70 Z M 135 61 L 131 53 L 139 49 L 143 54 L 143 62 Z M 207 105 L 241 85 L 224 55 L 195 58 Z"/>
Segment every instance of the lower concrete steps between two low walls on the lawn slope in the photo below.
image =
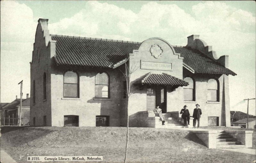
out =
<path fill-rule="evenodd" d="M 236 138 L 225 133 L 225 131 L 218 131 L 216 137 L 216 148 L 245 148 L 245 145 L 242 145 L 240 141 L 237 141 Z"/>

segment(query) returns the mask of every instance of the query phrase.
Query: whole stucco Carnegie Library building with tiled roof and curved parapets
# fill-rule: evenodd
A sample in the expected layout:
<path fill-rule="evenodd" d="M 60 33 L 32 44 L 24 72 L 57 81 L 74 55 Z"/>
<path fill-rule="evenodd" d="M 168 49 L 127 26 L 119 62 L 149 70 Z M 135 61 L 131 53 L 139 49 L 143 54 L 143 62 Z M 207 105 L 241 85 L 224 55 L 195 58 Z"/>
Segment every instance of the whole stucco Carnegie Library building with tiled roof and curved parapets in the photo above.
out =
<path fill-rule="evenodd" d="M 217 58 L 199 35 L 189 36 L 185 47 L 161 38 L 139 43 L 51 35 L 48 19 L 39 19 L 30 62 L 30 121 L 126 126 L 128 114 L 129 126 L 141 127 L 138 121 L 148 123 L 142 113 L 151 114 L 156 105 L 168 114 L 187 105 L 192 115 L 198 103 L 200 125 L 230 126 L 228 75 L 236 73 L 227 67 L 228 56 Z M 126 68 L 135 70 L 128 73 L 129 100 Z"/>

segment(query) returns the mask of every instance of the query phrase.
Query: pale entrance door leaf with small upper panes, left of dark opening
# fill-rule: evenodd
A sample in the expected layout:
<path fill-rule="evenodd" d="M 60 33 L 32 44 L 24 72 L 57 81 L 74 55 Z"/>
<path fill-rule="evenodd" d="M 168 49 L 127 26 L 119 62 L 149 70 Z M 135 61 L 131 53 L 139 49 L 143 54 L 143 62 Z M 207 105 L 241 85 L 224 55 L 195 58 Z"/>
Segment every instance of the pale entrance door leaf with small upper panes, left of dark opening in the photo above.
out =
<path fill-rule="evenodd" d="M 156 108 L 156 90 L 155 86 L 147 86 L 147 110 L 154 110 Z"/>

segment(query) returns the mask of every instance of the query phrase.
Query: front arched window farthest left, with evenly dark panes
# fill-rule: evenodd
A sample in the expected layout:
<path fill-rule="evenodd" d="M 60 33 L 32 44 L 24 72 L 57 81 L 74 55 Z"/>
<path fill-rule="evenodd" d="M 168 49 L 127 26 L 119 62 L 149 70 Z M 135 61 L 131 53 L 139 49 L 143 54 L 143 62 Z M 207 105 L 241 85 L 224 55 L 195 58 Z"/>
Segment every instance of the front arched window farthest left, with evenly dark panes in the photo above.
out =
<path fill-rule="evenodd" d="M 63 97 L 79 98 L 79 77 L 76 72 L 64 73 Z"/>

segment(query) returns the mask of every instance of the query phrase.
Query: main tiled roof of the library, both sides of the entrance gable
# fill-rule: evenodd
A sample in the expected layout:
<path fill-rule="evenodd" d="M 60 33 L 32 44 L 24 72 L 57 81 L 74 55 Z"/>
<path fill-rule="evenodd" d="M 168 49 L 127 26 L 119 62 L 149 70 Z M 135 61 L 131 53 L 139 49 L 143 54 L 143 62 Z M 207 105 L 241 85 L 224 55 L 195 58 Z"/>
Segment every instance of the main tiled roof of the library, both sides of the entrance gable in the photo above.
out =
<path fill-rule="evenodd" d="M 51 36 L 52 40 L 57 41 L 56 55 L 54 56 L 57 65 L 116 68 L 124 63 L 129 53 L 140 47 L 139 42 Z M 200 51 L 175 46 L 174 50 L 184 57 L 183 64 L 191 67 L 195 73 L 236 75 Z"/>

